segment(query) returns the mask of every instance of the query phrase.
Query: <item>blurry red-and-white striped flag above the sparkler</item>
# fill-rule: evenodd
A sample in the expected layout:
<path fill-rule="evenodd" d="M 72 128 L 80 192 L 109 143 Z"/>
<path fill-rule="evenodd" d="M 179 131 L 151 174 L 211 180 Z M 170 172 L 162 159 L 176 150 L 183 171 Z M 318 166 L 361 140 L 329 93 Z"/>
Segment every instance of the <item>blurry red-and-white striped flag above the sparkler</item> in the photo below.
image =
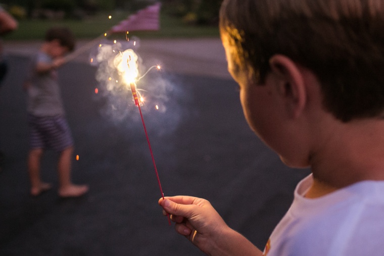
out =
<path fill-rule="evenodd" d="M 140 30 L 159 30 L 160 29 L 160 3 L 141 9 L 135 14 L 128 16 L 127 19 L 113 26 L 112 33 Z"/>

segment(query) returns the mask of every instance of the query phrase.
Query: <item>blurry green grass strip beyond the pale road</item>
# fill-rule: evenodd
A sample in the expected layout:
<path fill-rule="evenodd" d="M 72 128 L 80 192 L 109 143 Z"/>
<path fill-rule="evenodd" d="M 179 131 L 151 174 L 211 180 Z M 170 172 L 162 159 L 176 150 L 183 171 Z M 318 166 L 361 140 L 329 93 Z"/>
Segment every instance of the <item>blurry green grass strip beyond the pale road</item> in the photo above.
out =
<path fill-rule="evenodd" d="M 78 39 L 95 38 L 128 17 L 121 12 L 113 14 L 112 19 L 109 19 L 108 16 L 109 14 L 99 14 L 84 20 L 21 20 L 19 28 L 4 39 L 42 40 L 45 31 L 52 26 L 69 27 Z M 120 35 L 116 36 L 120 37 Z M 180 19 L 162 14 L 159 31 L 131 31 L 129 36 L 140 38 L 219 37 L 219 30 L 217 26 L 186 25 Z"/>

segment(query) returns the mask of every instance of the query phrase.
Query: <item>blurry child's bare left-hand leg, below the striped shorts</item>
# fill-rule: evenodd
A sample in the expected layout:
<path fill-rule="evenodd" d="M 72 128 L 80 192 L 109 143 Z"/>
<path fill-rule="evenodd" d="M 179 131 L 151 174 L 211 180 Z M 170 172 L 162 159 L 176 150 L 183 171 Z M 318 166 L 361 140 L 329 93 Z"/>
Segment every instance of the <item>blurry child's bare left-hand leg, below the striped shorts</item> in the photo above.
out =
<path fill-rule="evenodd" d="M 40 179 L 40 160 L 43 150 L 41 148 L 31 149 L 28 153 L 28 174 L 31 183 L 30 193 L 33 196 L 49 190 L 52 185 L 42 182 Z"/>

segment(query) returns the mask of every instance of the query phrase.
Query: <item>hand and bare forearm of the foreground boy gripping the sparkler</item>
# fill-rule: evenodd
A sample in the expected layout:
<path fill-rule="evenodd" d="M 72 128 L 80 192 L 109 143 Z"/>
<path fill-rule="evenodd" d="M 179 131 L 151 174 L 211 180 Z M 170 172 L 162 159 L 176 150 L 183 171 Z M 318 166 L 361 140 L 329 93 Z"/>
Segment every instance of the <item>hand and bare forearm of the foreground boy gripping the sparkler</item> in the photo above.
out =
<path fill-rule="evenodd" d="M 177 233 L 208 255 L 263 255 L 247 238 L 230 229 L 205 199 L 179 195 L 160 198 L 159 204 L 163 214 L 170 214 L 176 223 Z"/>

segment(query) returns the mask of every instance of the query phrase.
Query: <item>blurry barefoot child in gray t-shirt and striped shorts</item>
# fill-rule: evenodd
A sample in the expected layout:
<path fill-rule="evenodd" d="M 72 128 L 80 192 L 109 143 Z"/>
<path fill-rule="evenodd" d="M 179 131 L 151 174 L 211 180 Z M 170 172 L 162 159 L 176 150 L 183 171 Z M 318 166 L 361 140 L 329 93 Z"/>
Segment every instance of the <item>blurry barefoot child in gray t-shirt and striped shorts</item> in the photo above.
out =
<path fill-rule="evenodd" d="M 40 161 L 45 149 L 59 152 L 59 196 L 77 197 L 88 191 L 86 185 L 71 182 L 73 139 L 65 119 L 64 106 L 58 84 L 57 68 L 65 63 L 65 54 L 75 46 L 72 32 L 67 28 L 51 28 L 31 65 L 26 82 L 27 112 L 30 133 L 28 173 L 30 193 L 37 196 L 49 190 L 51 184 L 41 181 Z"/>

